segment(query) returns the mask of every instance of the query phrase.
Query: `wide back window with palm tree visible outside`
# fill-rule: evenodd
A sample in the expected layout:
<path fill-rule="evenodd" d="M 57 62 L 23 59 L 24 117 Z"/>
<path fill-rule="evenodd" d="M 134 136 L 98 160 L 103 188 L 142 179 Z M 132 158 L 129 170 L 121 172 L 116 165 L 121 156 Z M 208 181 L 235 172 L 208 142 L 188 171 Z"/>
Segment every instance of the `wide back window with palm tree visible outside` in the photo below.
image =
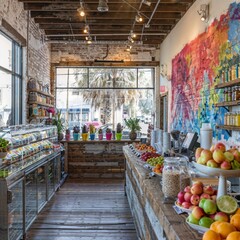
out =
<path fill-rule="evenodd" d="M 96 121 L 112 127 L 138 117 L 152 121 L 153 68 L 57 68 L 56 107 L 70 129 Z"/>

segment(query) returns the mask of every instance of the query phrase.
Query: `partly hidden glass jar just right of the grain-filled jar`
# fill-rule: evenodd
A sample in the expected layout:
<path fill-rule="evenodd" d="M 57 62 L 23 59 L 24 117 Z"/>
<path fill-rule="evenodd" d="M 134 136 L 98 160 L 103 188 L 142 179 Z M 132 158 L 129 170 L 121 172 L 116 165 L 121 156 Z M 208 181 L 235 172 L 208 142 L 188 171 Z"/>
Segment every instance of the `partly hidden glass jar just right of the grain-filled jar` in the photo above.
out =
<path fill-rule="evenodd" d="M 180 191 L 183 191 L 185 187 L 191 185 L 191 174 L 189 172 L 187 159 L 180 158 L 179 168 L 180 168 Z"/>

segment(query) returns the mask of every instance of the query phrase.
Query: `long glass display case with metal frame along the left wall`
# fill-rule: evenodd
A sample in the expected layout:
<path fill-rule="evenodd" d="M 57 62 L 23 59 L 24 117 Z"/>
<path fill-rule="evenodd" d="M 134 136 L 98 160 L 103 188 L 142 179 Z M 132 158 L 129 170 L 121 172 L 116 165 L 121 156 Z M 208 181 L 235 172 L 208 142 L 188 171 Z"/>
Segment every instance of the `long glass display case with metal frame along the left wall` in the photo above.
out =
<path fill-rule="evenodd" d="M 1 137 L 10 150 L 0 159 L 0 239 L 18 240 L 59 184 L 57 128 L 12 126 L 0 129 Z"/>

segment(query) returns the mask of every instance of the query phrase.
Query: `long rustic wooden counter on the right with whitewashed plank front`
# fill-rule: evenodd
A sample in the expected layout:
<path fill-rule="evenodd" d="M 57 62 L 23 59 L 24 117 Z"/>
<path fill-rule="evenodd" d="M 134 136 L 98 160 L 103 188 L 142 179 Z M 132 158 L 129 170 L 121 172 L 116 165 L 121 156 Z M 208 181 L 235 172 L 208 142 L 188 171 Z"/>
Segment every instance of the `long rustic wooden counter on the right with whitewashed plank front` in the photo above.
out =
<path fill-rule="evenodd" d="M 172 204 L 163 204 L 160 178 L 149 178 L 128 146 L 126 157 L 126 193 L 140 239 L 201 240 L 202 234 L 185 222 L 187 215 L 178 215 Z"/>

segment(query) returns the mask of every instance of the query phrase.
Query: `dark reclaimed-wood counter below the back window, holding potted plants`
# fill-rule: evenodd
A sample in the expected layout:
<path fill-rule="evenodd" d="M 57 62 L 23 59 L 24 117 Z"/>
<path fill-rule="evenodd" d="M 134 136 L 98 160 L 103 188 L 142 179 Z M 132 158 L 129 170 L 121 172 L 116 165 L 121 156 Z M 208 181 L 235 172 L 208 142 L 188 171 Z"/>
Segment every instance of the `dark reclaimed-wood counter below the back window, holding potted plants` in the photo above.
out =
<path fill-rule="evenodd" d="M 124 179 L 123 146 L 132 142 L 131 140 L 63 141 L 65 172 L 70 178 Z"/>

